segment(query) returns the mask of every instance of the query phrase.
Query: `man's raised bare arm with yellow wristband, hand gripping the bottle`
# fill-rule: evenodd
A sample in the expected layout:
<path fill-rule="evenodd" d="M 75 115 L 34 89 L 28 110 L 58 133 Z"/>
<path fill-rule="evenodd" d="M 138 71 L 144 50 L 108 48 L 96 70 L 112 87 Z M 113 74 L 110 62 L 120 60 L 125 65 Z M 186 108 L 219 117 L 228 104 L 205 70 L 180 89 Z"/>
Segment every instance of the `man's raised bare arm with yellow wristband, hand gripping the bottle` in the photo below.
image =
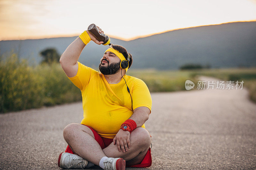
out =
<path fill-rule="evenodd" d="M 99 27 L 98 29 L 100 33 L 104 33 Z M 79 35 L 79 37 L 77 37 L 76 40 L 73 41 L 61 55 L 60 65 L 68 77 L 76 76 L 78 70 L 78 58 L 81 55 L 85 45 L 91 40 L 99 45 L 103 43 L 102 41 L 98 41 L 91 33 L 86 30 L 81 35 Z"/>

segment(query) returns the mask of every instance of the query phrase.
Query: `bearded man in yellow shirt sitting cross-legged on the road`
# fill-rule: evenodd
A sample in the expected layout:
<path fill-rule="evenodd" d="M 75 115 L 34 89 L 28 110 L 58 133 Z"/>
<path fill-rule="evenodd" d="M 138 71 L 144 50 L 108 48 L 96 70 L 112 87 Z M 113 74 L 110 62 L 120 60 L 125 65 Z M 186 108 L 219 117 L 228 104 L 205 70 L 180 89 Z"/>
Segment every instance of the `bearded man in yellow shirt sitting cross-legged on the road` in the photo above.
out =
<path fill-rule="evenodd" d="M 98 27 L 100 33 L 104 33 Z M 58 159 L 61 168 L 105 170 L 151 166 L 151 136 L 144 123 L 151 113 L 152 100 L 147 85 L 126 72 L 132 55 L 119 45 L 111 45 L 100 60 L 99 71 L 77 62 L 90 41 L 102 41 L 84 31 L 60 57 L 67 77 L 82 93 L 84 118 L 81 124 L 65 127 L 68 147 Z"/>

